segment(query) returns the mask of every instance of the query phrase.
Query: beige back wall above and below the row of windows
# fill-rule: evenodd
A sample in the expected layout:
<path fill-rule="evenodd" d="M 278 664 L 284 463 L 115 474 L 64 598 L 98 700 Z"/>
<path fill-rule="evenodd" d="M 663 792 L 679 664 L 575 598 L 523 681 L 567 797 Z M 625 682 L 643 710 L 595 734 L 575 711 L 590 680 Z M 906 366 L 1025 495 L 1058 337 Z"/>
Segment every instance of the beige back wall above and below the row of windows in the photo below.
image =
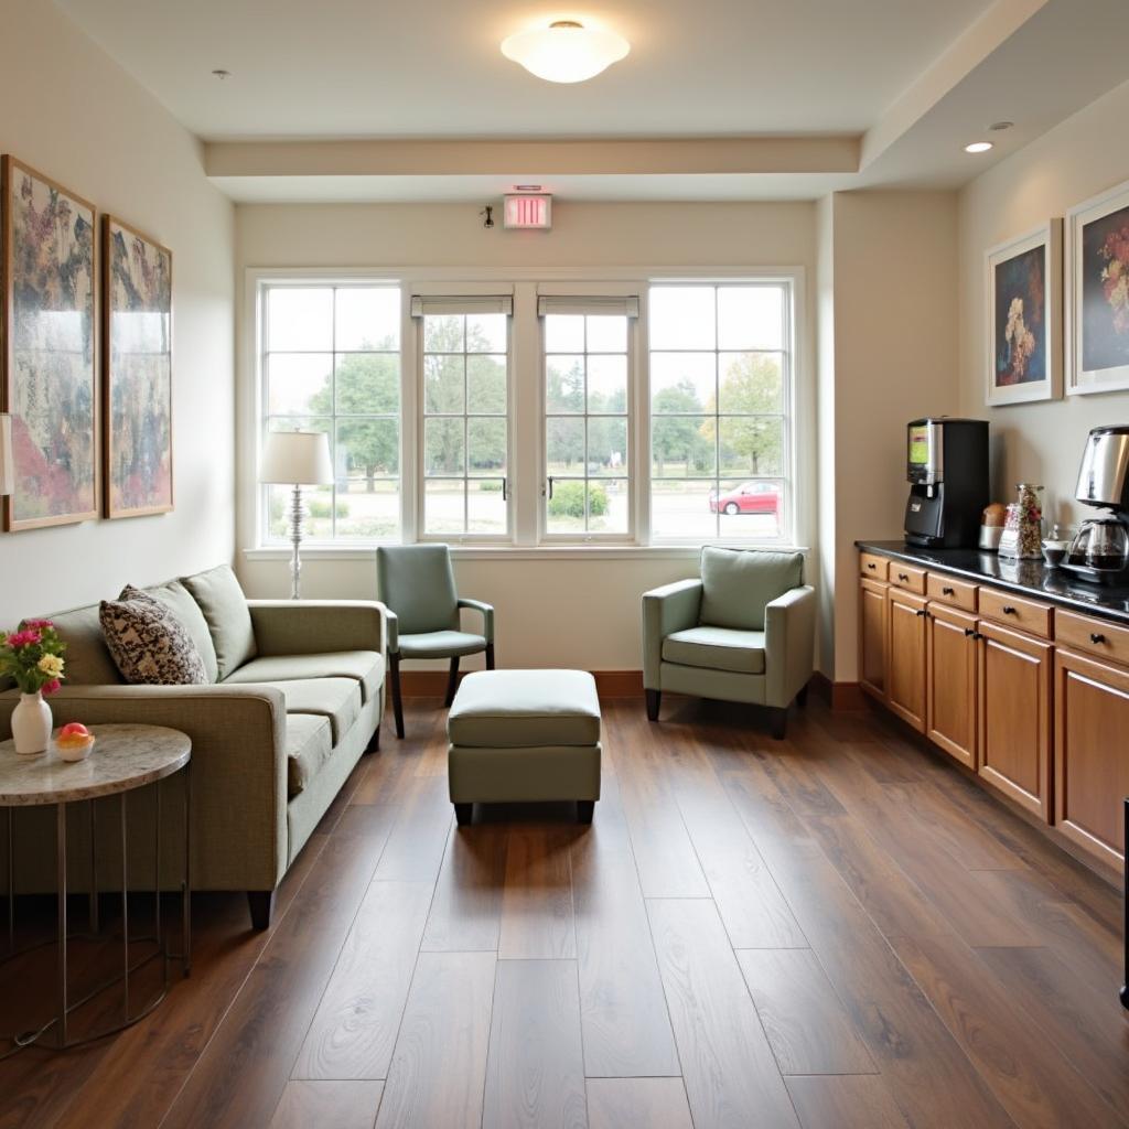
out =
<path fill-rule="evenodd" d="M 252 266 L 467 266 L 473 278 L 481 268 L 803 266 L 808 282 L 813 275 L 811 203 L 564 202 L 553 210 L 551 233 L 485 230 L 478 210 L 458 204 L 240 205 L 239 273 Z M 805 306 L 811 308 L 811 301 Z M 804 358 L 811 357 L 813 340 L 808 332 Z M 814 483 L 805 487 L 814 510 Z M 246 545 L 253 530 L 243 517 Z M 251 594 L 286 593 L 285 560 L 244 559 L 239 568 Z M 692 576 L 695 568 L 692 554 L 647 552 L 561 560 L 524 551 L 456 561 L 460 590 L 498 610 L 500 663 L 603 671 L 642 665 L 640 594 Z M 309 596 L 370 598 L 375 585 L 371 555 L 307 559 L 303 567 L 303 592 Z"/>

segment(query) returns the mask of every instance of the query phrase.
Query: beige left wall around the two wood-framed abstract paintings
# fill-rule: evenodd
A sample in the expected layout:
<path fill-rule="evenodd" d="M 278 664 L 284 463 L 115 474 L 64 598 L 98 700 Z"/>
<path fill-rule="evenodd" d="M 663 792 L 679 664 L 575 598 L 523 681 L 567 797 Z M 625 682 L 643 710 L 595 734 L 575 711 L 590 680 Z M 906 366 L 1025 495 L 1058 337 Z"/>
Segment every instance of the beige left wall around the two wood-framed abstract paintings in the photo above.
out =
<path fill-rule="evenodd" d="M 3 0 L 0 150 L 173 250 L 176 510 L 0 533 L 0 627 L 231 559 L 234 209 L 198 142 L 54 5 Z"/>

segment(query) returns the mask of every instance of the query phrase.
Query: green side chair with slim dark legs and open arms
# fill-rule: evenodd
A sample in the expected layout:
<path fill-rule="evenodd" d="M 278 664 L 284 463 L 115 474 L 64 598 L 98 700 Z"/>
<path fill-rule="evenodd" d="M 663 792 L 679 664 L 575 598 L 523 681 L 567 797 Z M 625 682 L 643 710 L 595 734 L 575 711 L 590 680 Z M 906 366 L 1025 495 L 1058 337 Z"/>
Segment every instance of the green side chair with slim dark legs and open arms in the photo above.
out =
<path fill-rule="evenodd" d="M 402 658 L 449 658 L 447 700 L 455 700 L 458 660 L 463 655 L 487 654 L 493 669 L 493 607 L 478 599 L 460 599 L 447 545 L 400 545 L 376 551 L 376 586 L 388 609 L 388 681 L 396 736 L 404 735 L 400 695 Z M 458 613 L 470 607 L 482 613 L 482 634 L 460 629 Z"/>

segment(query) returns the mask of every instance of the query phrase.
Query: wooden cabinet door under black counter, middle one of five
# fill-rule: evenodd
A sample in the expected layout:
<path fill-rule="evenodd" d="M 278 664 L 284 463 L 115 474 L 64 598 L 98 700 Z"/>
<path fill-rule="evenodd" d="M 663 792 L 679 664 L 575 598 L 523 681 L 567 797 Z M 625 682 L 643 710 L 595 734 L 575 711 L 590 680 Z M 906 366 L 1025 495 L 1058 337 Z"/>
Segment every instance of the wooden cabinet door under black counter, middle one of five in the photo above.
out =
<path fill-rule="evenodd" d="M 977 768 L 977 620 L 930 602 L 926 618 L 926 734 Z"/>

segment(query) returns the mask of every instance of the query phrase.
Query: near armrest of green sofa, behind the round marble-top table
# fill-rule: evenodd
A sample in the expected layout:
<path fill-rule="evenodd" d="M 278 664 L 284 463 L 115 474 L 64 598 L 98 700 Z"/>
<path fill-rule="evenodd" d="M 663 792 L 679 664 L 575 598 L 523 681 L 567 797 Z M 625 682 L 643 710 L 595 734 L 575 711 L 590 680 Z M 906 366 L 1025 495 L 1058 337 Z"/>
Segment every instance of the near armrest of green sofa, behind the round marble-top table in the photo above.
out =
<path fill-rule="evenodd" d="M 0 738 L 18 694 L 0 695 Z M 273 890 L 289 861 L 286 706 L 261 685 L 75 685 L 52 694 L 56 725 L 163 725 L 192 742 L 192 881 Z M 97 756 L 97 750 L 94 753 Z"/>

